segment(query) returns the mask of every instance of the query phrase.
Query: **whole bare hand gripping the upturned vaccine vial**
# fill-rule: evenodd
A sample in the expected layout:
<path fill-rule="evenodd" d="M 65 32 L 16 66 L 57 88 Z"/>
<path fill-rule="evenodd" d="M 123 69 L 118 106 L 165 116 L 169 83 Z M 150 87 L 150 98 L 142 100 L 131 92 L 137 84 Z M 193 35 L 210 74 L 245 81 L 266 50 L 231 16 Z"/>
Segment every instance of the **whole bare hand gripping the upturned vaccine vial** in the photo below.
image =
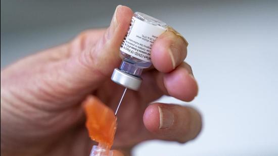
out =
<path fill-rule="evenodd" d="M 84 31 L 72 41 L 24 58 L 1 72 L 1 153 L 88 155 L 92 141 L 81 102 L 94 94 L 116 109 L 123 87 L 110 80 L 132 11 L 118 6 L 107 29 Z M 114 148 L 162 139 L 187 142 L 201 130 L 201 116 L 179 105 L 153 103 L 162 95 L 191 101 L 198 86 L 184 63 L 187 46 L 171 31 L 155 41 L 152 68 L 139 91 L 128 90 L 118 113 Z M 142 120 L 143 119 L 143 120 Z"/>

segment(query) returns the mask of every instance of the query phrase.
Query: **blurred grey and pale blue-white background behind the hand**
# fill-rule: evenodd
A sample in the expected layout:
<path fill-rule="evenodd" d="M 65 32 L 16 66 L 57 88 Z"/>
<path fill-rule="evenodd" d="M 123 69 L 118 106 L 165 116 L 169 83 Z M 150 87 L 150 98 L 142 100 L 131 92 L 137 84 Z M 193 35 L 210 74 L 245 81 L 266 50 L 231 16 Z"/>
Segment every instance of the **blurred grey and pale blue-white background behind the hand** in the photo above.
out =
<path fill-rule="evenodd" d="M 1 68 L 107 27 L 117 5 L 165 21 L 189 41 L 186 61 L 199 82 L 199 137 L 186 144 L 148 141 L 134 155 L 278 154 L 278 1 L 1 0 Z"/>

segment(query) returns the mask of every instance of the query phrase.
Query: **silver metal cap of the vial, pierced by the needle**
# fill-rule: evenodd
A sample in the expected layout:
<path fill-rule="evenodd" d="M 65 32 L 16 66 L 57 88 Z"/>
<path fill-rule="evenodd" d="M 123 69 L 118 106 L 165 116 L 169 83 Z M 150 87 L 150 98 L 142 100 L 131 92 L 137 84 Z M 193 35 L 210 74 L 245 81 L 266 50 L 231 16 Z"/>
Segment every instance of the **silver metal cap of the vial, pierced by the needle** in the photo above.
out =
<path fill-rule="evenodd" d="M 142 78 L 125 73 L 117 68 L 114 69 L 111 80 L 132 90 L 138 90 L 142 83 Z"/>

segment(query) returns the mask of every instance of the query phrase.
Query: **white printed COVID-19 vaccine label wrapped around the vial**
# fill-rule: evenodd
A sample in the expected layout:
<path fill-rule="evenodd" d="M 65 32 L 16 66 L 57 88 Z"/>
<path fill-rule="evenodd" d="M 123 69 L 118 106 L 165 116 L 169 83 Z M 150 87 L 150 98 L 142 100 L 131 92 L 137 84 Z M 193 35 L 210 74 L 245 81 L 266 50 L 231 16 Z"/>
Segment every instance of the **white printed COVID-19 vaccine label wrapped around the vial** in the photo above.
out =
<path fill-rule="evenodd" d="M 132 17 L 120 50 L 137 59 L 151 62 L 152 45 L 157 37 L 165 31 L 166 29 L 163 27 Z"/>

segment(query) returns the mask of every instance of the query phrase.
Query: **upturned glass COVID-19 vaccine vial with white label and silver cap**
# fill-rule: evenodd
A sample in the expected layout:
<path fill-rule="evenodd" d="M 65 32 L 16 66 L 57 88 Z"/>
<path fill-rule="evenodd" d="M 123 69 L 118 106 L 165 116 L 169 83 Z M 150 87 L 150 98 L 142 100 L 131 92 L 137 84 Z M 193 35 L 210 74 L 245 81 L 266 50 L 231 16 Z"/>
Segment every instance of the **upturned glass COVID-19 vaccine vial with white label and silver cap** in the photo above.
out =
<path fill-rule="evenodd" d="M 122 63 L 112 74 L 112 81 L 138 90 L 143 69 L 152 65 L 151 48 L 159 35 L 167 30 L 166 23 L 146 14 L 134 13 L 120 47 Z"/>

